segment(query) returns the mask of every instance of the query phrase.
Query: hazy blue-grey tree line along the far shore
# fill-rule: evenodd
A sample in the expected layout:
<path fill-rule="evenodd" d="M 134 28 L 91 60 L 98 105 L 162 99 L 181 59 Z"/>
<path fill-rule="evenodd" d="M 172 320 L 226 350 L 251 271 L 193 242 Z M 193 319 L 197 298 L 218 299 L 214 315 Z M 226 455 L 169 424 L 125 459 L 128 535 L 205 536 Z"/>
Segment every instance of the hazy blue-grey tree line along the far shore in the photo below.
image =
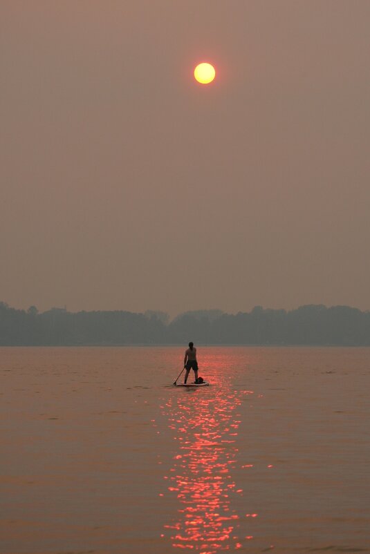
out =
<path fill-rule="evenodd" d="M 1 346 L 78 345 L 370 345 L 370 312 L 348 306 L 306 305 L 225 314 L 185 312 L 169 321 L 163 312 L 39 313 L 0 303 Z"/>

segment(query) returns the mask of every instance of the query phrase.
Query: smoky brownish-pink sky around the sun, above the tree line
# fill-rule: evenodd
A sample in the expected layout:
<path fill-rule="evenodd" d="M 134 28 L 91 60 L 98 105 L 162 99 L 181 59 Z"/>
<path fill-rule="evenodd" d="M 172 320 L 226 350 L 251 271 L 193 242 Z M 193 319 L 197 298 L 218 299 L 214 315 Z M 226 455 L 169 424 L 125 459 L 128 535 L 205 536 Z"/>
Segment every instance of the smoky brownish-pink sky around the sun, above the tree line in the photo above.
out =
<path fill-rule="evenodd" d="M 0 300 L 370 309 L 369 29 L 369 0 L 1 0 Z"/>

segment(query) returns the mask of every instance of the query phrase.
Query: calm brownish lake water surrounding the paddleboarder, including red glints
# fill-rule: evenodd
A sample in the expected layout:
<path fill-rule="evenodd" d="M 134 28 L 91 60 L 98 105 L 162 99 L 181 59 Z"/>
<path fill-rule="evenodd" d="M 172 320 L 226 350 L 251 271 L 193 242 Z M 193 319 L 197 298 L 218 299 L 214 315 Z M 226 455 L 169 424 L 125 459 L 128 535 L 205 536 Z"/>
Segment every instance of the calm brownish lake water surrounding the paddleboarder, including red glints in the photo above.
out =
<path fill-rule="evenodd" d="M 370 349 L 2 348 L 1 554 L 370 552 Z"/>

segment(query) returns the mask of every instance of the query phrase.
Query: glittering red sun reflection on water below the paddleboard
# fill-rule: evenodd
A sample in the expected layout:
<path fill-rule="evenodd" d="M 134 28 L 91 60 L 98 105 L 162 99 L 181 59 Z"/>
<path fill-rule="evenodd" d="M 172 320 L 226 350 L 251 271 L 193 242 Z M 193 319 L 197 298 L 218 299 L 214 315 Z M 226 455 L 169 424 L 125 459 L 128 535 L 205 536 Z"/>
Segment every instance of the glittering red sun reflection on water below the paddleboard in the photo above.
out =
<path fill-rule="evenodd" d="M 200 554 L 242 547 L 237 536 L 241 515 L 232 507 L 232 497 L 243 490 L 234 483 L 232 468 L 237 464 L 239 407 L 244 395 L 253 393 L 220 384 L 174 390 L 163 408 L 178 442 L 165 479 L 179 502 L 165 535 L 174 548 Z"/>

